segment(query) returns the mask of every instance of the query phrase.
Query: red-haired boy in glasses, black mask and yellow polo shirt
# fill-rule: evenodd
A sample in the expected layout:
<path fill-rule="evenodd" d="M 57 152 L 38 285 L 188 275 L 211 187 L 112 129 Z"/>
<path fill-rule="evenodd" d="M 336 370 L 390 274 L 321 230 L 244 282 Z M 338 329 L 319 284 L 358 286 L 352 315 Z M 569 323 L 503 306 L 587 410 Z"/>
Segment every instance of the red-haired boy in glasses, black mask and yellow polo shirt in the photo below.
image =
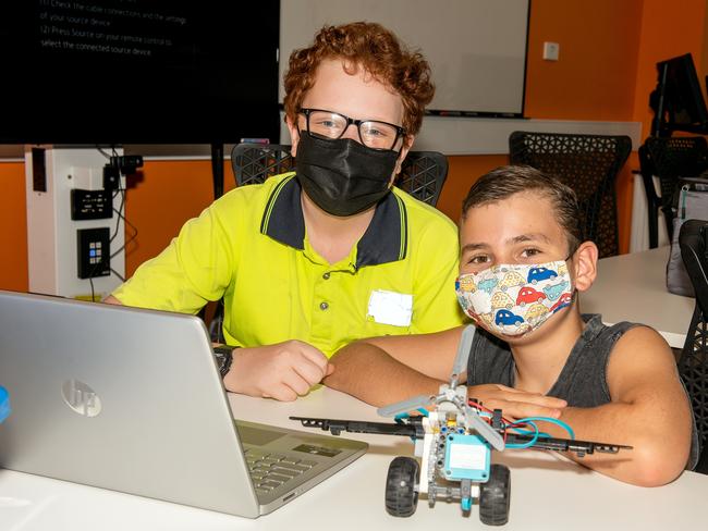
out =
<path fill-rule="evenodd" d="M 215 201 L 107 302 L 196 313 L 223 298 L 229 391 L 292 400 L 355 339 L 463 322 L 454 224 L 393 186 L 434 86 L 384 27 L 324 27 L 285 75 L 295 172 Z"/>

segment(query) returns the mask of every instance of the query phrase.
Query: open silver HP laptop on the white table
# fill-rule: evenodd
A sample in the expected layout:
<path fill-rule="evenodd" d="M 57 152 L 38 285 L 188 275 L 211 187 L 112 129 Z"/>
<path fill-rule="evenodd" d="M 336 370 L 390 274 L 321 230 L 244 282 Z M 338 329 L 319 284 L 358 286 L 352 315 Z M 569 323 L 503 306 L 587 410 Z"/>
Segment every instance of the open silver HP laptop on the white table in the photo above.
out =
<path fill-rule="evenodd" d="M 0 292 L 0 467 L 249 518 L 367 447 L 234 423 L 193 316 Z"/>

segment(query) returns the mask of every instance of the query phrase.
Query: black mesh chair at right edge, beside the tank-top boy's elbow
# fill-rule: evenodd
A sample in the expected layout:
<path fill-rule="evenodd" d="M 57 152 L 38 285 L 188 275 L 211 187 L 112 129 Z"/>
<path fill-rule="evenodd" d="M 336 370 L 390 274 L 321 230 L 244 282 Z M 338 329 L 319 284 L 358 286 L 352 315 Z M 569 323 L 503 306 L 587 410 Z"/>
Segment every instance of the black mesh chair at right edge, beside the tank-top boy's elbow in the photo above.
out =
<path fill-rule="evenodd" d="M 691 398 L 700 460 L 697 472 L 708 473 L 708 223 L 688 220 L 679 233 L 681 257 L 696 293 L 696 307 L 679 360 L 679 373 Z"/>

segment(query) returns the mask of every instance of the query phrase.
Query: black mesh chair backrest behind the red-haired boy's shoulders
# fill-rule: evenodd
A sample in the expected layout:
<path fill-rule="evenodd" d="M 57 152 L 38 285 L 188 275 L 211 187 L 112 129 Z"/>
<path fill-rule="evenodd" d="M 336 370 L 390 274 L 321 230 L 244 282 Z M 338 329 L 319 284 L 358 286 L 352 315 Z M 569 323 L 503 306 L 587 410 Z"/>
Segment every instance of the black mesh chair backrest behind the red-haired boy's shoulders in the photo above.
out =
<path fill-rule="evenodd" d="M 231 165 L 239 186 L 263 183 L 266 178 L 293 171 L 290 146 L 237 144 Z M 413 197 L 436 206 L 448 176 L 448 158 L 437 151 L 410 151 L 401 166 L 396 186 Z"/>

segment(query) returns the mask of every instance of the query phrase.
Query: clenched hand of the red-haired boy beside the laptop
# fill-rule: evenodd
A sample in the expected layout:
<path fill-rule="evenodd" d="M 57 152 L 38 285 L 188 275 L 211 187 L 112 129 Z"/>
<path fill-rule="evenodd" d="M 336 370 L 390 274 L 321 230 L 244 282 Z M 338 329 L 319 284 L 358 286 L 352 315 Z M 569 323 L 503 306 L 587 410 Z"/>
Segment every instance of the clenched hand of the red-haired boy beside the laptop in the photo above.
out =
<path fill-rule="evenodd" d="M 319 349 L 292 339 L 234 350 L 223 382 L 235 393 L 290 402 L 306 395 L 333 370 Z"/>

